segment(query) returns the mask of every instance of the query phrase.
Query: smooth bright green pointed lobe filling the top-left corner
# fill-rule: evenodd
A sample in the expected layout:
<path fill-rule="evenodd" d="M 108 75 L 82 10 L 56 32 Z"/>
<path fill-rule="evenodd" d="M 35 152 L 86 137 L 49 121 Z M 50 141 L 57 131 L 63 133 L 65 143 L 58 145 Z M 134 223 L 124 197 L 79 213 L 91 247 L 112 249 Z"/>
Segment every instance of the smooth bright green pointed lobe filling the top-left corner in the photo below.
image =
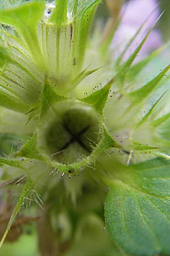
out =
<path fill-rule="evenodd" d="M 27 2 L 10 9 L 0 10 L 0 22 L 14 26 L 24 39 L 29 51 L 42 68 L 42 56 L 37 38 L 37 26 L 45 9 L 45 3 Z"/>

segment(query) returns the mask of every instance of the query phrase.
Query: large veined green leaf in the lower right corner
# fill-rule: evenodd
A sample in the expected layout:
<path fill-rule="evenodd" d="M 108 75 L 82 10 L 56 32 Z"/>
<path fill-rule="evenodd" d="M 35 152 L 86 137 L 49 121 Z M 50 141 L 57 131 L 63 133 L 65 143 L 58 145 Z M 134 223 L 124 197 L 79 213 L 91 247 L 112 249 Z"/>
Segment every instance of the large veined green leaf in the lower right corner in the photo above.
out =
<path fill-rule="evenodd" d="M 130 255 L 170 254 L 170 161 L 117 166 L 109 177 L 105 221 L 114 242 Z M 120 170 L 118 170 L 120 168 Z"/>

